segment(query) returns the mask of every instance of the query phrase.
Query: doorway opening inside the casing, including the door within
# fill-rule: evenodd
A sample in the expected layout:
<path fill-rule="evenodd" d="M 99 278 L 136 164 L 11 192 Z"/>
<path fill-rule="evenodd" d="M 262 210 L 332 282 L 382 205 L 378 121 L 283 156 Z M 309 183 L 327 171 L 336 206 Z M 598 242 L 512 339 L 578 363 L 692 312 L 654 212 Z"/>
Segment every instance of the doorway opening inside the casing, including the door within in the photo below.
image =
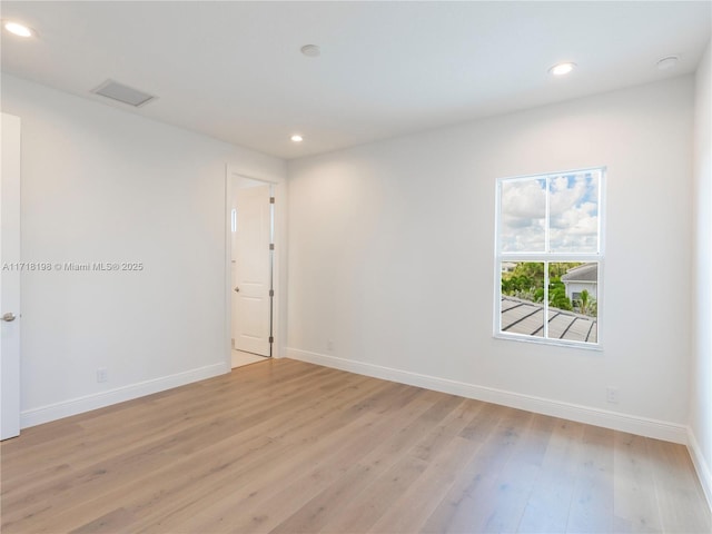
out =
<path fill-rule="evenodd" d="M 230 365 L 263 362 L 274 353 L 274 184 L 228 172 Z"/>

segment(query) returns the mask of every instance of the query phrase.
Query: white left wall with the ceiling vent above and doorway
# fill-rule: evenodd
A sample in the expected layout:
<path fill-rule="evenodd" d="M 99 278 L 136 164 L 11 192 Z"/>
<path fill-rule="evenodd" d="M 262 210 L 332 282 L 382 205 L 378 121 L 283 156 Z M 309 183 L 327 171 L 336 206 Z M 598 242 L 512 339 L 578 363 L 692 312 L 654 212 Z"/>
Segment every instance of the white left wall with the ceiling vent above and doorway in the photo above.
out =
<path fill-rule="evenodd" d="M 7 75 L 2 110 L 22 119 L 23 260 L 145 266 L 23 275 L 23 425 L 228 370 L 226 165 L 284 181 L 284 161 Z"/>

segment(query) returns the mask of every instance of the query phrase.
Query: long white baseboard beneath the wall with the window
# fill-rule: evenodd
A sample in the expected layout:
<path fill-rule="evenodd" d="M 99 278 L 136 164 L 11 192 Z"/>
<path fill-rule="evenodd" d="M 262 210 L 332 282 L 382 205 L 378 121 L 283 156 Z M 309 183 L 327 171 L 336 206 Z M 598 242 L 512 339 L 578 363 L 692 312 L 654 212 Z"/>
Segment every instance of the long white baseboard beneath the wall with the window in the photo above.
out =
<path fill-rule="evenodd" d="M 438 378 L 435 376 L 421 375 L 408 370 L 394 369 L 380 365 L 354 362 L 350 359 L 337 358 L 335 356 L 299 350 L 296 348 L 285 348 L 285 356 L 301 362 L 348 370 L 360 375 L 383 378 L 385 380 L 398 382 L 412 386 L 424 387 L 436 392 L 449 393 L 467 398 L 475 398 L 487 403 L 500 404 L 513 408 L 525 409 L 536 414 L 551 415 L 564 419 L 586 423 L 589 425 L 602 426 L 614 431 L 627 432 L 645 437 L 664 439 L 666 442 L 688 444 L 688 427 L 664 421 L 637 417 L 616 412 L 609 412 L 590 406 L 582 406 L 571 403 L 562 403 L 548 398 L 523 395 L 521 393 L 496 389 L 493 387 L 477 386 L 463 382 Z"/>

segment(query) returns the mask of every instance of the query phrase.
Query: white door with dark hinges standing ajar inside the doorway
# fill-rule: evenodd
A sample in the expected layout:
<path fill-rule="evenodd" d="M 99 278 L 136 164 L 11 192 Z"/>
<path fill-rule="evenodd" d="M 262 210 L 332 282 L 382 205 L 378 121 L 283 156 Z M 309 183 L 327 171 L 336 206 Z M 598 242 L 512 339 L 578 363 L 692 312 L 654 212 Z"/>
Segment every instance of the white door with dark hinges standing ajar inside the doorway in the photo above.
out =
<path fill-rule="evenodd" d="M 233 248 L 233 337 L 235 348 L 270 356 L 271 206 L 269 186 L 237 191 Z"/>

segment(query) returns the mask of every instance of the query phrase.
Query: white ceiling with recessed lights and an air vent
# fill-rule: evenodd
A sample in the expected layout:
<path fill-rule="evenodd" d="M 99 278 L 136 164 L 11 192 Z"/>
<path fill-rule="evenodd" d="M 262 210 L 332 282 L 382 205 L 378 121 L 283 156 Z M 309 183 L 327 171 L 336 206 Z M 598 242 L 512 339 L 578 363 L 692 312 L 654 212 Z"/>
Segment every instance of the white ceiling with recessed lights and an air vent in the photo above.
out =
<path fill-rule="evenodd" d="M 289 159 L 693 72 L 711 6 L 3 0 L 39 38 L 2 31 L 2 70 Z M 89 92 L 108 78 L 159 99 Z"/>

